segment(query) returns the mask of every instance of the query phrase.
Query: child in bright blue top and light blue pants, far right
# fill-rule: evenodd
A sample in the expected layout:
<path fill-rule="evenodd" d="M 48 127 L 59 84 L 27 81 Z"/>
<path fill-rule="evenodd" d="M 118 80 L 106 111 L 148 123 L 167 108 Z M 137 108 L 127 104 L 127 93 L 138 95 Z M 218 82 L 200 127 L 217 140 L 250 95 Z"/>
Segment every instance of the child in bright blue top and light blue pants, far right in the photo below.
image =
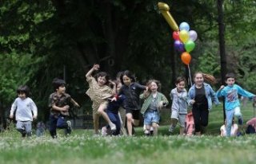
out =
<path fill-rule="evenodd" d="M 225 97 L 225 112 L 226 112 L 226 136 L 230 137 L 233 116 L 238 118 L 238 124 L 242 125 L 243 119 L 240 111 L 240 103 L 238 94 L 248 98 L 254 98 L 254 94 L 247 92 L 235 83 L 234 73 L 226 74 L 226 87 L 224 85 L 219 88 L 217 96 Z"/>

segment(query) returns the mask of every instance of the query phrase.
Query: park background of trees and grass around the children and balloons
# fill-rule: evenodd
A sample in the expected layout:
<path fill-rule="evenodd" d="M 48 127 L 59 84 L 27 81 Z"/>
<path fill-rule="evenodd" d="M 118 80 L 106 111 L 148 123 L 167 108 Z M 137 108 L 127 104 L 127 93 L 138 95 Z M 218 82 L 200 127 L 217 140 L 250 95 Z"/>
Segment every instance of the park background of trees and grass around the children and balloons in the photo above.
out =
<path fill-rule="evenodd" d="M 202 71 L 223 83 L 234 72 L 237 83 L 256 93 L 256 2 L 254 0 L 169 0 L 170 13 L 198 33 L 191 53 L 192 74 Z M 170 107 L 162 112 L 158 137 L 94 138 L 86 72 L 94 63 L 115 77 L 130 69 L 141 84 L 154 78 L 170 100 L 177 76 L 188 76 L 174 50 L 172 29 L 155 0 L 12 0 L 0 2 L 0 163 L 254 163 L 255 135 L 219 137 L 222 105 L 210 111 L 206 135 L 168 133 Z M 54 77 L 67 82 L 67 92 L 82 105 L 74 109 L 72 135 L 58 131 L 21 139 L 14 123 L 5 124 L 16 89 L 31 88 L 38 121 L 46 123 Z M 242 107 L 245 121 L 254 116 L 252 103 Z M 71 118 L 72 119 L 72 118 Z M 75 122 L 76 121 L 76 122 Z M 36 121 L 35 121 L 36 123 Z M 3 127 L 8 130 L 3 130 Z M 244 127 L 240 127 L 243 132 Z"/>

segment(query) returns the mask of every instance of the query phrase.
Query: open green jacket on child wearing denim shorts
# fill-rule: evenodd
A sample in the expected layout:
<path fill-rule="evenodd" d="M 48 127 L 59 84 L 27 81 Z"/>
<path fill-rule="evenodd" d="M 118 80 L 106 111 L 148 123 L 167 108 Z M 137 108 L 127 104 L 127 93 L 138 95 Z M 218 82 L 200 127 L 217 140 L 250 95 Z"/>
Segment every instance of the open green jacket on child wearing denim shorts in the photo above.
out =
<path fill-rule="evenodd" d="M 150 93 L 150 96 L 145 97 L 144 94 L 141 94 L 139 96 L 140 99 L 144 100 L 143 104 L 142 104 L 142 110 L 141 113 L 142 115 L 145 113 L 145 111 L 147 110 L 148 107 L 150 107 L 150 103 L 153 99 L 152 93 Z M 163 103 L 166 103 L 165 106 L 169 103 L 168 100 L 166 99 L 166 96 L 164 96 L 162 93 L 157 92 L 157 104 L 160 103 L 160 101 L 162 101 Z M 160 108 L 158 107 L 158 113 L 160 112 Z"/>

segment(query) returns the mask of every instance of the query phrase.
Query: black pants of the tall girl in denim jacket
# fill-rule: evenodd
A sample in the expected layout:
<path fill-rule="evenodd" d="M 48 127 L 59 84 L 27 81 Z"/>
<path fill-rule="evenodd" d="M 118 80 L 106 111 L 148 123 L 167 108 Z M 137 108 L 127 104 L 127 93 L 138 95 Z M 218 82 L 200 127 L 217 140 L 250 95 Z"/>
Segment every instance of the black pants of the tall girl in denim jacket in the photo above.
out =
<path fill-rule="evenodd" d="M 208 125 L 209 111 L 207 105 L 194 104 L 192 108 L 194 117 L 194 131 L 200 132 L 201 127 Z"/>

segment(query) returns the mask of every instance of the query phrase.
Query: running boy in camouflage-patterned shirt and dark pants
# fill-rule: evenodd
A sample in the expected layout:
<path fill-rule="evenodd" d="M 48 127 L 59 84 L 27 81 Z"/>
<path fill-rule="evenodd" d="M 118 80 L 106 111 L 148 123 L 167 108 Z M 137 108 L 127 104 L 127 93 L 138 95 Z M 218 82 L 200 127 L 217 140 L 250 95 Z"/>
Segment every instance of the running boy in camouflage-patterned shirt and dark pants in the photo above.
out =
<path fill-rule="evenodd" d="M 53 81 L 55 92 L 50 94 L 50 135 L 53 139 L 57 138 L 56 128 L 65 129 L 66 135 L 70 135 L 72 131 L 71 122 L 67 119 L 70 110 L 70 103 L 79 107 L 69 94 L 66 93 L 66 82 L 55 78 Z"/>

